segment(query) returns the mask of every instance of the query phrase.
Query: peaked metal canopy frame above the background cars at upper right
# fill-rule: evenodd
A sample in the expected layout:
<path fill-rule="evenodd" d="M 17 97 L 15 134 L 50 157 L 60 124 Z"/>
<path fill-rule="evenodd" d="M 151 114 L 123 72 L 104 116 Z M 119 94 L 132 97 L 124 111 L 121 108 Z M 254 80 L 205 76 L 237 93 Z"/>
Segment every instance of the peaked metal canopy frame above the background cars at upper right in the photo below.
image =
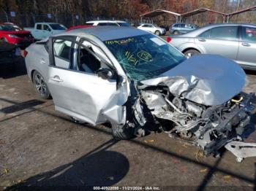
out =
<path fill-rule="evenodd" d="M 182 17 L 190 17 L 192 15 L 197 15 L 197 14 L 200 14 L 200 13 L 203 13 L 203 12 L 213 12 L 213 13 L 222 15 L 223 23 L 225 23 L 225 20 L 227 20 L 227 23 L 228 23 L 230 21 L 230 17 L 233 17 L 233 15 L 238 15 L 238 14 L 241 14 L 243 12 L 249 12 L 249 11 L 256 11 L 256 6 L 249 7 L 249 8 L 246 8 L 246 9 L 241 9 L 241 10 L 238 10 L 236 12 L 231 12 L 229 14 L 224 13 L 224 12 L 218 12 L 218 11 L 215 11 L 213 9 L 207 9 L 207 8 L 194 9 L 192 11 L 184 12 L 182 14 L 180 14 L 178 12 L 167 11 L 167 10 L 164 10 L 164 9 L 156 9 L 154 11 L 146 12 L 143 15 L 140 15 L 140 17 L 141 18 L 142 17 L 157 17 L 157 16 L 163 15 L 163 14 L 170 14 L 170 15 L 173 15 L 173 16 L 176 17 L 176 23 L 181 23 Z"/>

